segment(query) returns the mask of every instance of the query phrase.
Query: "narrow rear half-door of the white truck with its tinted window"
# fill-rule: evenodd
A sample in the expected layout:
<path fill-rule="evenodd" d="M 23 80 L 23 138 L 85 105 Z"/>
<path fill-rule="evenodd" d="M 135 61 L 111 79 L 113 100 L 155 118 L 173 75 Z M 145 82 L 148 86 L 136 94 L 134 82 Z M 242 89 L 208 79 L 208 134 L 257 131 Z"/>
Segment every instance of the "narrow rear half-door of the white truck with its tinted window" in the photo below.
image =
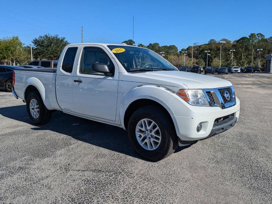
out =
<path fill-rule="evenodd" d="M 63 60 L 56 73 L 56 96 L 62 110 L 74 112 L 72 88 L 73 69 L 77 67 L 74 65 L 77 47 L 68 46 L 64 52 L 64 57 L 60 57 Z"/>

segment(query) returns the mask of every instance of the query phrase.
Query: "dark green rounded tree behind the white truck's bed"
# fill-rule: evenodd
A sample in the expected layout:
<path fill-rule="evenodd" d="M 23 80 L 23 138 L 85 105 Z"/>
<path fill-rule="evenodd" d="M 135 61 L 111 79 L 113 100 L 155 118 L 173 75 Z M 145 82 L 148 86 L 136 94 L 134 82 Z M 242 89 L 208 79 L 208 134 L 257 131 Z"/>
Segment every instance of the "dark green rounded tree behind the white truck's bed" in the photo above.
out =
<path fill-rule="evenodd" d="M 58 60 L 63 48 L 69 44 L 65 37 L 45 34 L 32 40 L 34 58 Z"/>

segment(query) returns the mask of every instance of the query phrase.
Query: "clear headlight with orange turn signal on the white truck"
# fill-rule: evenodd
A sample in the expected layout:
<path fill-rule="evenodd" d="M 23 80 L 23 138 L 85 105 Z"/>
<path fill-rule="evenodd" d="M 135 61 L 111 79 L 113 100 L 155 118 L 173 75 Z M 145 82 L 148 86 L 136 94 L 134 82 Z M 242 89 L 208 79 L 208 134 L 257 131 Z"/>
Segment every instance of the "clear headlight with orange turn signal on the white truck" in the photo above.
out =
<path fill-rule="evenodd" d="M 199 89 L 180 89 L 177 95 L 193 106 L 209 106 L 203 91 Z"/>

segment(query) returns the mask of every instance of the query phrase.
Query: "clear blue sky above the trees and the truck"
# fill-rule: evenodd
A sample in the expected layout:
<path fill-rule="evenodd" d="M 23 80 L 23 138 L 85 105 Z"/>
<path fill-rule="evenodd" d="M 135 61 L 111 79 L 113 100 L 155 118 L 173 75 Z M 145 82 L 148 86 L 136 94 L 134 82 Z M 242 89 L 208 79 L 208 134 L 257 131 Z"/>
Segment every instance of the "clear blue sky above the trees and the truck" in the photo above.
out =
<path fill-rule="evenodd" d="M 121 43 L 132 39 L 149 44 L 187 48 L 195 42 L 250 33 L 272 36 L 269 1 L 93 1 L 1 0 L 0 38 L 18 34 L 31 44 L 34 37 L 59 34 L 71 43 Z M 5 31 L 5 32 L 4 32 Z"/>

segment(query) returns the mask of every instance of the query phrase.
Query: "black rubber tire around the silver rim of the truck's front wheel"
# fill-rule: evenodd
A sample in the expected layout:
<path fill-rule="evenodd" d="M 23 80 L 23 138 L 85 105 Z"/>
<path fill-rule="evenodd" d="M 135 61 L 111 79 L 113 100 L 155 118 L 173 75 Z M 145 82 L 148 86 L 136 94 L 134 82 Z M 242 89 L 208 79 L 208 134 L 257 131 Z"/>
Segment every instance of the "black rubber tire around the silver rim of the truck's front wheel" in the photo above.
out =
<path fill-rule="evenodd" d="M 148 118 L 160 128 L 161 142 L 154 150 L 146 150 L 137 141 L 135 130 L 137 123 Z M 128 122 L 128 138 L 135 152 L 142 158 L 159 161 L 171 155 L 178 147 L 178 136 L 172 118 L 159 106 L 145 106 L 135 111 Z"/>

